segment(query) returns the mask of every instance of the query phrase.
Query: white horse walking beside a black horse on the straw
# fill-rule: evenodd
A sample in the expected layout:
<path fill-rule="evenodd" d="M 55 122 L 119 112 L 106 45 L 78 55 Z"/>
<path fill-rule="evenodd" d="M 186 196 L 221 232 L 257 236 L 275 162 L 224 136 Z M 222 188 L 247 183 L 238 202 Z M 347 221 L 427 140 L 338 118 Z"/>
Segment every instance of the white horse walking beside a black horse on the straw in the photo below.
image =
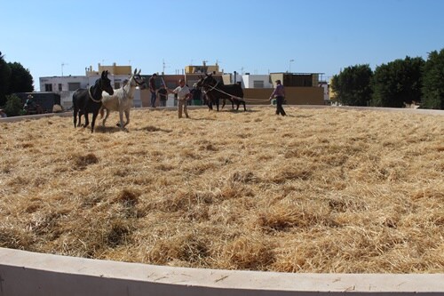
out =
<path fill-rule="evenodd" d="M 134 100 L 134 92 L 136 91 L 136 86 L 145 85 L 145 81 L 137 72 L 137 68 L 134 70 L 134 73 L 131 75 L 127 84 L 123 85 L 123 87 L 118 90 L 114 90 L 113 95 L 107 94 L 107 92 L 102 92 L 102 107 L 100 108 L 100 115 L 103 118 L 103 111 L 107 111 L 107 115 L 103 118 L 102 125 L 105 126 L 107 122 L 107 117 L 109 116 L 110 111 L 119 111 L 120 116 L 120 129 L 122 131 L 125 130 L 125 126 L 130 124 L 130 109 L 133 105 Z M 126 123 L 123 124 L 123 112 L 125 112 Z"/>

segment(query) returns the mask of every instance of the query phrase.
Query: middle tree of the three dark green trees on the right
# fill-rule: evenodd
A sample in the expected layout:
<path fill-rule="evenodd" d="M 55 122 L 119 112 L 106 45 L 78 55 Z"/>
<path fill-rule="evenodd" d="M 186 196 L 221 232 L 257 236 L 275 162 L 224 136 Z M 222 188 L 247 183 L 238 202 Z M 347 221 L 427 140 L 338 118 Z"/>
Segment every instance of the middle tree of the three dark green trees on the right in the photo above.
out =
<path fill-rule="evenodd" d="M 372 106 L 404 107 L 404 103 L 420 102 L 422 97 L 422 68 L 420 57 L 393 60 L 375 69 Z"/>

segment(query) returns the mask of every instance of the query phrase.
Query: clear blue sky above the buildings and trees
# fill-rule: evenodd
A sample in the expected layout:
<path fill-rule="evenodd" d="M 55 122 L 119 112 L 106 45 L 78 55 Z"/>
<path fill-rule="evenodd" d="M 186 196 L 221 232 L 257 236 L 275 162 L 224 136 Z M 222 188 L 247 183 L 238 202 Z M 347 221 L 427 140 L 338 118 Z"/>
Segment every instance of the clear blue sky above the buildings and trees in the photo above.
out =
<path fill-rule="evenodd" d="M 175 74 L 372 69 L 444 48 L 442 0 L 1 0 L 0 52 L 34 77 L 130 64 Z M 292 61 L 290 61 L 292 60 Z M 62 67 L 62 64 L 65 64 Z"/>

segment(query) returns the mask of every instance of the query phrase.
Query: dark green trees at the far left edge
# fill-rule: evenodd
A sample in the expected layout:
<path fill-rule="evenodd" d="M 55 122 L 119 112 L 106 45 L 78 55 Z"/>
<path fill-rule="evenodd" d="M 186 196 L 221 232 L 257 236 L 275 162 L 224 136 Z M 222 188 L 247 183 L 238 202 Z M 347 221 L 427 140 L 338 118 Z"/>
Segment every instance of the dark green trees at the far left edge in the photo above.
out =
<path fill-rule="evenodd" d="M 29 70 L 19 62 L 6 62 L 0 52 L 0 108 L 4 108 L 8 116 L 18 115 L 23 106 L 15 92 L 34 92 L 34 80 Z"/>

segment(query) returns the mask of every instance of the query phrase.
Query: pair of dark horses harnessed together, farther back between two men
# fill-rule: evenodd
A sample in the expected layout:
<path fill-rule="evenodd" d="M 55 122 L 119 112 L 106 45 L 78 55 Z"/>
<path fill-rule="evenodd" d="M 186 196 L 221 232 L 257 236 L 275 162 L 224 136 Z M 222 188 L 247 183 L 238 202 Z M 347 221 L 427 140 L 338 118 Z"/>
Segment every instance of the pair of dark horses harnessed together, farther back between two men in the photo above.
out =
<path fill-rule="evenodd" d="M 208 107 L 212 109 L 213 103 L 216 104 L 219 110 L 219 100 L 223 100 L 222 108 L 225 106 L 226 99 L 232 102 L 232 108 L 234 103 L 236 104 L 236 110 L 239 110 L 239 106 L 243 105 L 243 110 L 247 111 L 245 107 L 245 100 L 243 99 L 242 86 L 240 84 L 222 84 L 219 83 L 211 74 L 206 74 L 205 77 L 200 76 L 200 80 L 196 84 L 200 87 L 208 99 Z"/>

